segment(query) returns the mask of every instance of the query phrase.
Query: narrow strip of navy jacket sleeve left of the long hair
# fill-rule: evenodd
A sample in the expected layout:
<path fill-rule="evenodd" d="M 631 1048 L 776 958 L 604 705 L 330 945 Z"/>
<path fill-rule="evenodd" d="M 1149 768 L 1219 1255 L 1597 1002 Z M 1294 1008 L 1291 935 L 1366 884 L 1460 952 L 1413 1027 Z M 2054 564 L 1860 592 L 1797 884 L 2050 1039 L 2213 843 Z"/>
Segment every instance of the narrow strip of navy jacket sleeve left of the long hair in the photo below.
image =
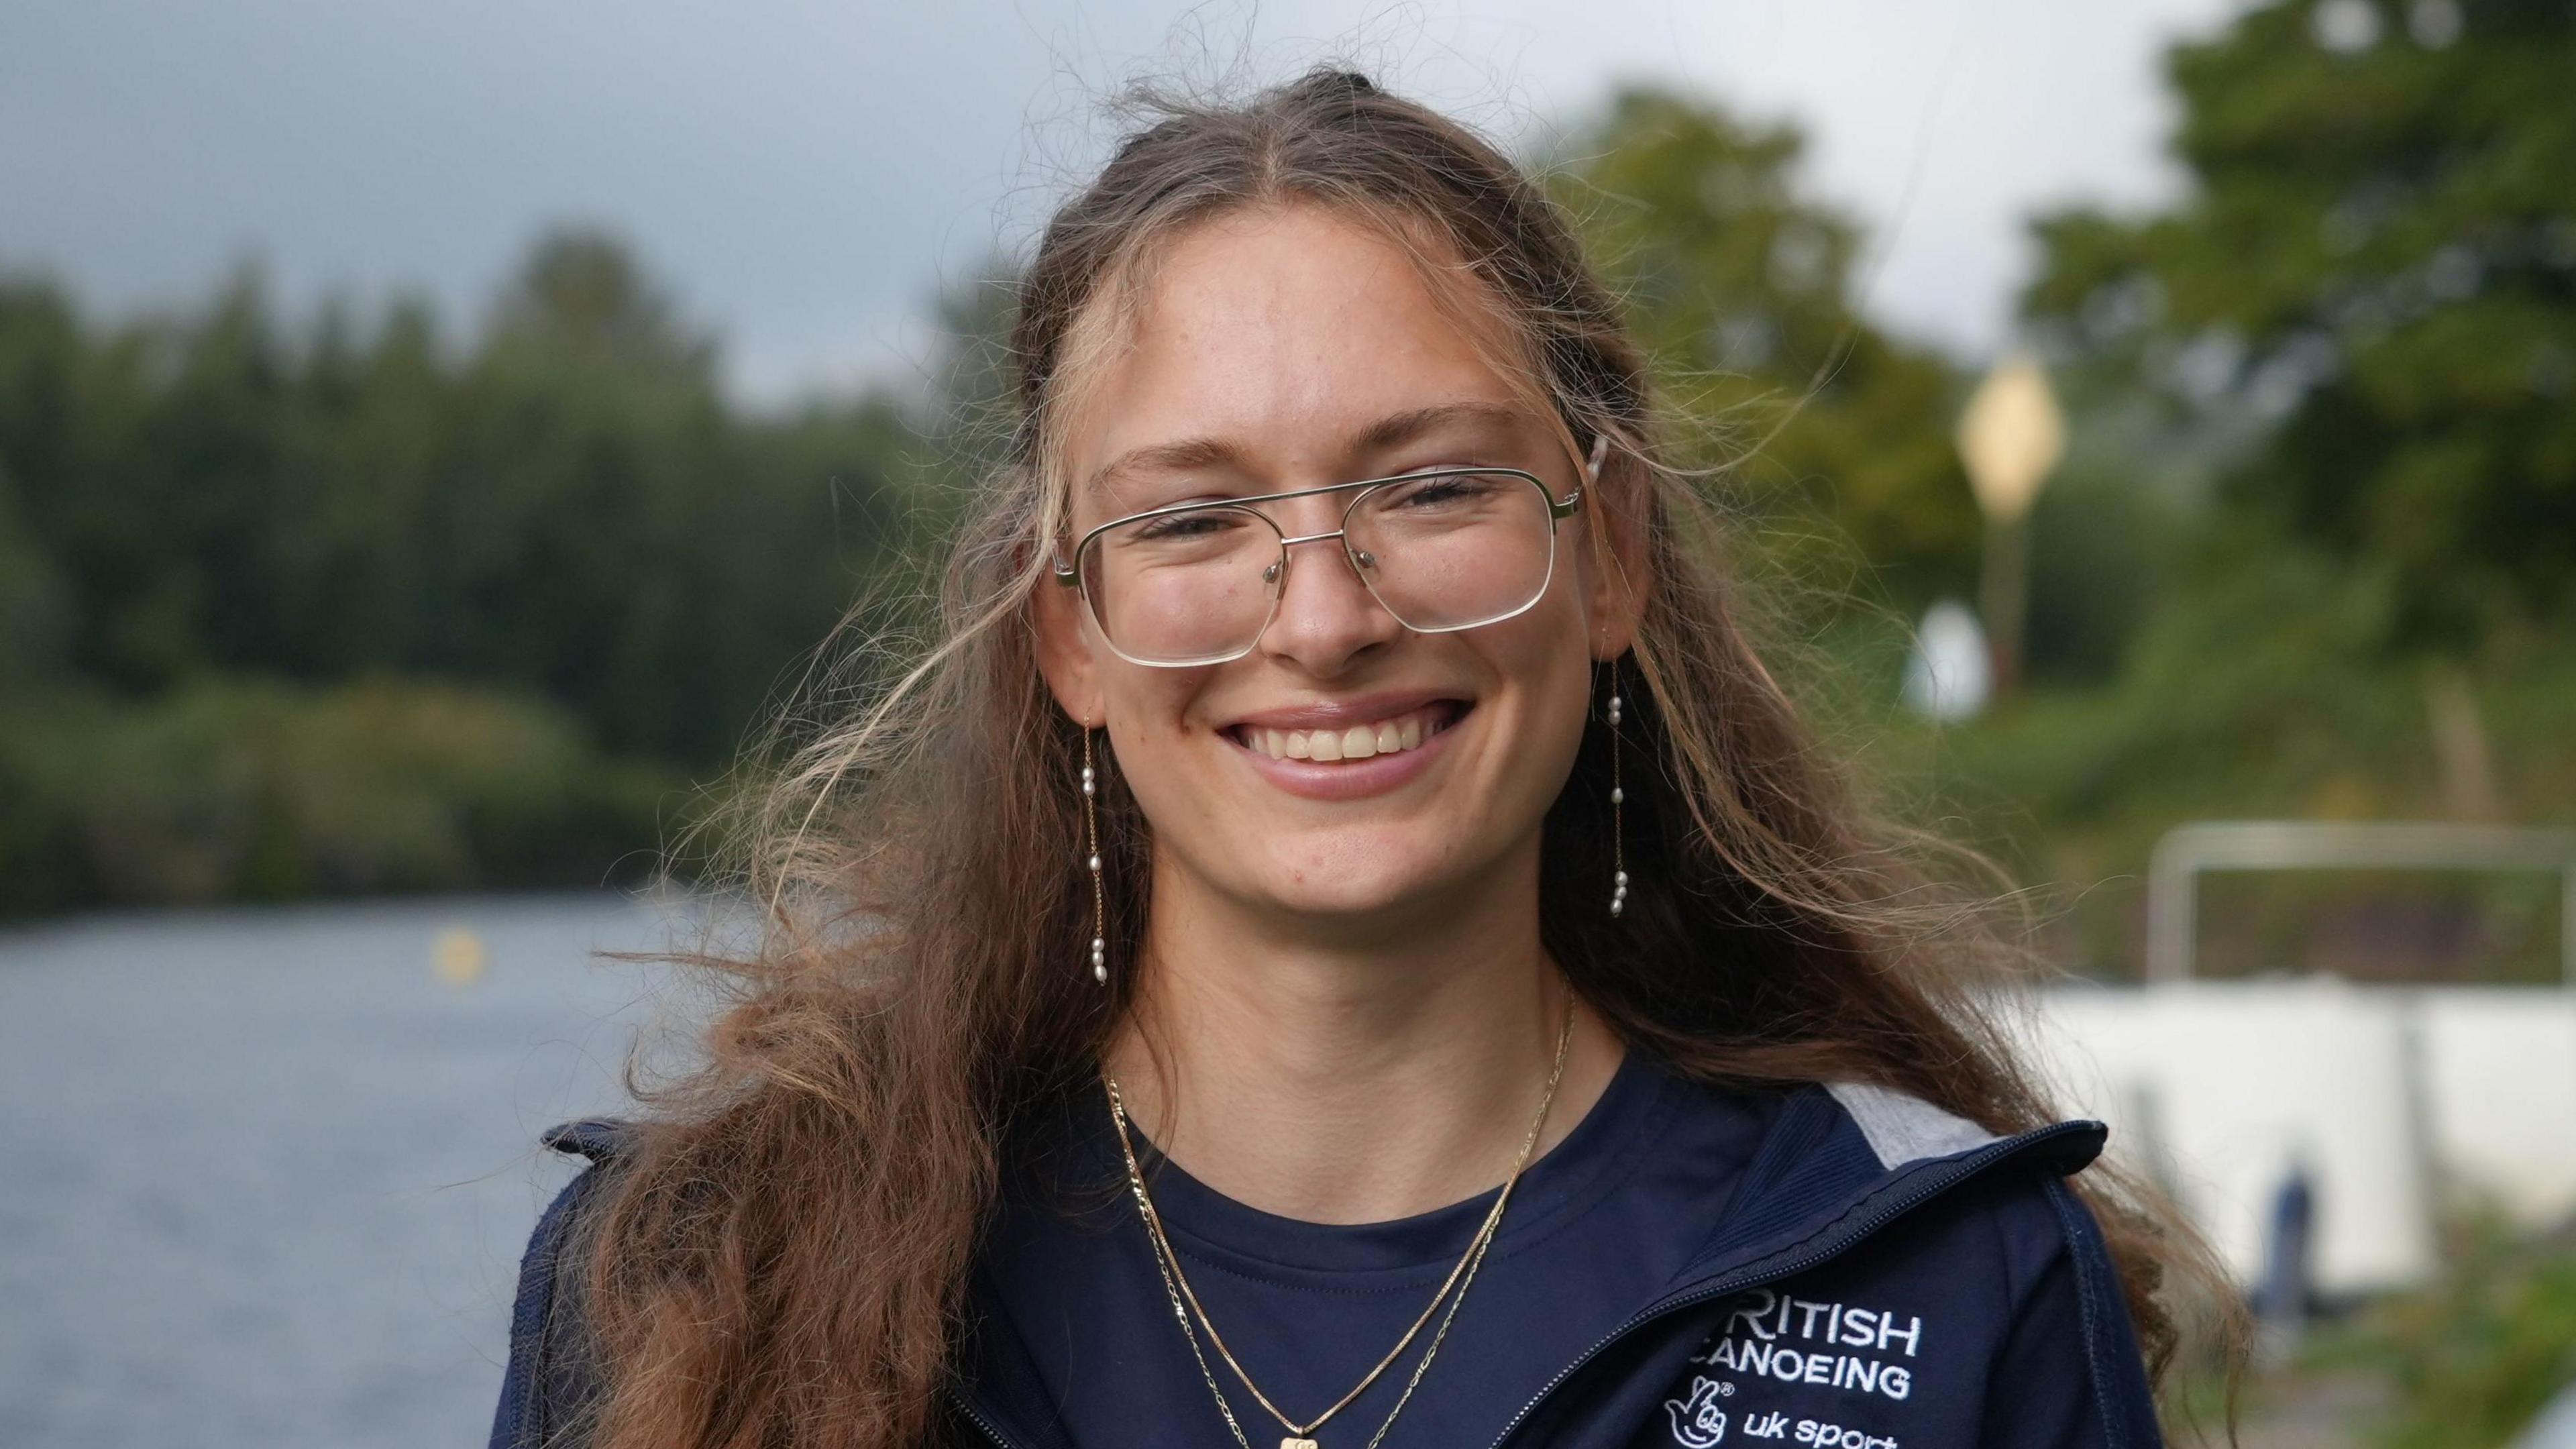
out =
<path fill-rule="evenodd" d="M 546 1145 L 590 1155 L 592 1163 L 564 1183 L 528 1235 L 528 1256 L 518 1266 L 518 1297 L 510 1305 L 510 1364 L 492 1410 L 492 1449 L 574 1449 L 582 1410 L 598 1397 L 598 1372 L 580 1315 L 582 1253 L 574 1225 L 608 1171 L 600 1163 L 605 1152 L 592 1152 L 592 1142 L 572 1140 L 567 1132 L 572 1129 L 551 1132 Z"/>

